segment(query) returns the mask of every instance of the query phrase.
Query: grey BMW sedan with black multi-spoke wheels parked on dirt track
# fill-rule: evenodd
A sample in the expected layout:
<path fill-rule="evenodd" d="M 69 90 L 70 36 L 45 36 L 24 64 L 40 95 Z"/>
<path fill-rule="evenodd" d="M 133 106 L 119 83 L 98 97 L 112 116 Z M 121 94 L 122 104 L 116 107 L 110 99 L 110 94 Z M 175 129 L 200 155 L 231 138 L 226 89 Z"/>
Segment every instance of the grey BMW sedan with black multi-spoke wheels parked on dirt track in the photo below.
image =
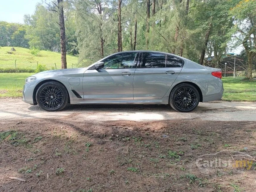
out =
<path fill-rule="evenodd" d="M 190 112 L 219 100 L 221 70 L 158 51 L 124 51 L 86 68 L 43 71 L 28 77 L 23 101 L 46 111 L 68 104 L 168 104 Z"/>

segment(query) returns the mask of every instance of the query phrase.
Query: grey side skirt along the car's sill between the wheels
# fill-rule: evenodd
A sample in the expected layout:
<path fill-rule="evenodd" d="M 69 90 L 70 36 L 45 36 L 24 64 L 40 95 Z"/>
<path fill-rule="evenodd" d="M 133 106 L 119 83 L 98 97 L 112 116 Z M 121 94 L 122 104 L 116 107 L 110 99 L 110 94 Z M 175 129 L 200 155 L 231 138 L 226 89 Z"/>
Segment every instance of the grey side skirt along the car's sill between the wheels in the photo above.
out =
<path fill-rule="evenodd" d="M 70 100 L 70 104 L 168 104 L 169 97 L 162 99 L 127 99 L 127 100 Z"/>

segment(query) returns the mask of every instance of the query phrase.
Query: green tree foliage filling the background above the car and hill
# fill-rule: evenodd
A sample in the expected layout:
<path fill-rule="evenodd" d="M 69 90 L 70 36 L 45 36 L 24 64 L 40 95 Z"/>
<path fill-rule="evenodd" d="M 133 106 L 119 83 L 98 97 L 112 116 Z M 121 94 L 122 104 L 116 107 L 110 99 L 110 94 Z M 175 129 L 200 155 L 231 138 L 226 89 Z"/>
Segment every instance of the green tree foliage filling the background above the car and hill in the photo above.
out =
<path fill-rule="evenodd" d="M 24 25 L 1 22 L 0 46 L 60 51 L 50 4 L 37 4 Z M 165 51 L 202 65 L 214 55 L 218 68 L 223 54 L 243 45 L 252 79 L 255 7 L 255 0 L 63 0 L 67 53 L 81 65 L 126 50 Z"/>

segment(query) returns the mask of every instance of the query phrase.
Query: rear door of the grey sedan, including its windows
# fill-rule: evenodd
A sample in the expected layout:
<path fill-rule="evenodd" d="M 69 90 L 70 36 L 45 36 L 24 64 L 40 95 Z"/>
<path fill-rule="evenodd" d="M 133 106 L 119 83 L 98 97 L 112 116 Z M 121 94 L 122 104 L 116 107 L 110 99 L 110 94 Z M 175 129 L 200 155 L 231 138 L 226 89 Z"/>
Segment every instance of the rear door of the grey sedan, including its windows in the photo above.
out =
<path fill-rule="evenodd" d="M 174 83 L 183 60 L 166 54 L 142 52 L 134 73 L 134 99 L 161 99 Z"/>

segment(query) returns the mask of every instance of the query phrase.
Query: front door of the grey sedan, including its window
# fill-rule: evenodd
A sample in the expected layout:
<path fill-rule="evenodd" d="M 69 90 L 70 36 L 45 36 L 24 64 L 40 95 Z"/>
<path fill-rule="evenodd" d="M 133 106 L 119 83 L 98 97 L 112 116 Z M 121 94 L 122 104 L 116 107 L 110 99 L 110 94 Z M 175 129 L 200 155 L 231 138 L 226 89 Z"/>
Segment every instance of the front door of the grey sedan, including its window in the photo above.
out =
<path fill-rule="evenodd" d="M 84 99 L 133 99 L 136 55 L 137 52 L 115 54 L 103 60 L 103 68 L 85 71 Z"/>

